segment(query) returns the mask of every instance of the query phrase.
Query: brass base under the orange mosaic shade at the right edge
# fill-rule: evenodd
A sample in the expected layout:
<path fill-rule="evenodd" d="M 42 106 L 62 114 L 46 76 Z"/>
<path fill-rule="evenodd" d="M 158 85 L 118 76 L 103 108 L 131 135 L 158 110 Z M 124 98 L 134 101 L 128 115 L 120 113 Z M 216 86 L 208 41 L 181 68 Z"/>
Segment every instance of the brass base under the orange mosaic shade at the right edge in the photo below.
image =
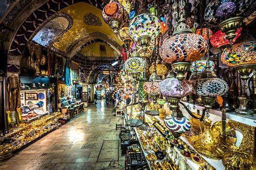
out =
<path fill-rule="evenodd" d="M 237 72 L 241 75 L 242 80 L 248 80 L 250 78 L 249 75 L 254 71 L 255 67 L 255 63 L 234 66 Z"/>

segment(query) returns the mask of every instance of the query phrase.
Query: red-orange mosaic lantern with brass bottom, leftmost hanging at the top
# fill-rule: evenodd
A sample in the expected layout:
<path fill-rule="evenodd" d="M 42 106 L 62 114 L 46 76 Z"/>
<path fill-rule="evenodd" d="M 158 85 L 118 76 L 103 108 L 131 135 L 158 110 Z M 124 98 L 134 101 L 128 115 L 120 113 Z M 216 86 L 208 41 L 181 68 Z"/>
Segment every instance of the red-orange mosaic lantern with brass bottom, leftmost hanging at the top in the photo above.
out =
<path fill-rule="evenodd" d="M 128 15 L 124 10 L 124 6 L 118 2 L 106 4 L 102 11 L 102 16 L 104 21 L 109 24 L 113 30 L 115 36 L 117 36 L 119 28 L 125 24 L 126 20 L 128 20 Z"/>

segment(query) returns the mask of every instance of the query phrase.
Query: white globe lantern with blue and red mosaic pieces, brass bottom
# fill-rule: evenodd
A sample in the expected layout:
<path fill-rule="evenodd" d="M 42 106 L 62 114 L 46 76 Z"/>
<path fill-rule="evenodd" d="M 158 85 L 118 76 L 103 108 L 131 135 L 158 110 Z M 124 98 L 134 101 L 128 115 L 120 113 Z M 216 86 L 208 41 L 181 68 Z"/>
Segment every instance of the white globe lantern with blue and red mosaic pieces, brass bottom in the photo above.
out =
<path fill-rule="evenodd" d="M 144 53 L 147 51 L 151 38 L 156 38 L 160 29 L 160 20 L 150 13 L 142 13 L 134 17 L 129 25 L 131 37 L 139 42 Z"/>

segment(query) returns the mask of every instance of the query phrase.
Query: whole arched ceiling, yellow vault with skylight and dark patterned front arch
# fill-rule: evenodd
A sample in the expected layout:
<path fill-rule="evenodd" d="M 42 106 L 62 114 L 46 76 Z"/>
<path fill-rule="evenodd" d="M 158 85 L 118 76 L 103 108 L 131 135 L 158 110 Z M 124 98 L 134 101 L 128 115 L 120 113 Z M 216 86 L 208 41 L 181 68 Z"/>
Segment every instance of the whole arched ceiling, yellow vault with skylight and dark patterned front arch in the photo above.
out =
<path fill-rule="evenodd" d="M 15 22 L 19 15 L 25 15 L 25 11 L 21 10 L 21 8 L 26 9 L 26 6 L 33 6 L 33 3 L 35 3 L 35 6 L 39 6 L 40 3 L 42 5 L 38 9 L 31 11 L 31 13 L 27 12 L 26 15 L 29 15 L 21 23 L 17 31 L 14 29 L 14 39 L 8 41 L 8 43 L 11 42 L 9 54 L 22 55 L 28 41 L 33 39 L 33 41 L 38 42 L 38 39 L 44 39 L 44 43 L 41 45 L 69 57 L 76 55 L 77 52 L 79 54 L 88 54 L 90 50 L 86 46 L 89 44 L 91 44 L 91 47 L 98 47 L 99 44 L 92 45 L 95 43 L 93 40 L 103 41 L 110 45 L 106 46 L 106 49 L 110 51 L 106 52 L 106 56 L 113 52 L 115 54 L 114 57 L 117 57 L 118 54 L 120 55 L 123 43 L 119 38 L 116 39 L 114 37 L 112 29 L 102 18 L 102 9 L 106 4 L 105 1 L 39 0 L 38 2 L 33 2 L 21 0 L 13 9 L 9 10 L 8 14 L 4 15 L 5 18 L 1 19 L 2 24 L 10 26 L 9 28 L 12 29 L 12 22 Z M 69 23 L 67 23 L 67 20 Z M 93 22 L 91 22 L 92 20 Z M 52 29 L 49 29 L 50 27 Z M 12 33 L 8 31 L 6 37 L 9 36 L 8 38 L 10 38 L 10 34 Z M 46 36 L 50 34 L 52 37 L 47 40 L 47 37 L 45 39 L 42 36 L 43 34 Z M 87 42 L 90 43 L 88 44 Z M 93 56 L 98 55 L 95 52 L 91 53 Z"/>

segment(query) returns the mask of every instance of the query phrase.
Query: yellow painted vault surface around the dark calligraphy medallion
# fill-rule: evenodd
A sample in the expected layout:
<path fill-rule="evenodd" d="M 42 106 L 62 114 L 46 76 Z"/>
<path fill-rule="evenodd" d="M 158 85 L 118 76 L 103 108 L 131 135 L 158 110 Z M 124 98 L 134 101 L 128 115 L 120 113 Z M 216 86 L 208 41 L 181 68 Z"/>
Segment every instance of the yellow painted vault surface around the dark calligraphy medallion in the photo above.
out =
<path fill-rule="evenodd" d="M 77 44 L 78 41 L 90 36 L 90 33 L 93 32 L 105 34 L 113 41 L 116 39 L 110 26 L 107 25 L 102 18 L 102 10 L 95 6 L 80 2 L 66 7 L 63 10 L 60 10 L 60 12 L 68 13 L 73 19 L 73 26 L 71 29 L 64 33 L 63 36 L 53 44 L 53 47 L 62 52 L 66 51 L 72 44 Z M 86 22 L 84 19 L 85 15 L 88 14 L 90 14 L 90 16 L 87 17 L 86 20 L 89 22 Z M 92 25 L 92 23 L 90 23 L 91 19 L 95 19 L 95 23 L 97 21 L 100 24 L 96 26 Z M 117 38 L 117 43 L 120 46 L 123 44 L 119 38 Z"/>

